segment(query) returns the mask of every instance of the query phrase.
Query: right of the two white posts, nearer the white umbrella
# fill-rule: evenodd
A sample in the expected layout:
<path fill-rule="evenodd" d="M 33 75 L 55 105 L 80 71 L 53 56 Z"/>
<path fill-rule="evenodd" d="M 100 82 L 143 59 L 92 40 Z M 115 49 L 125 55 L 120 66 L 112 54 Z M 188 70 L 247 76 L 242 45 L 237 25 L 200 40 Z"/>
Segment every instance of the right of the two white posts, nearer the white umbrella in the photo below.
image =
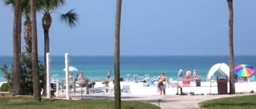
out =
<path fill-rule="evenodd" d="M 65 53 L 65 69 L 66 69 L 66 99 L 69 100 L 69 56 Z"/>

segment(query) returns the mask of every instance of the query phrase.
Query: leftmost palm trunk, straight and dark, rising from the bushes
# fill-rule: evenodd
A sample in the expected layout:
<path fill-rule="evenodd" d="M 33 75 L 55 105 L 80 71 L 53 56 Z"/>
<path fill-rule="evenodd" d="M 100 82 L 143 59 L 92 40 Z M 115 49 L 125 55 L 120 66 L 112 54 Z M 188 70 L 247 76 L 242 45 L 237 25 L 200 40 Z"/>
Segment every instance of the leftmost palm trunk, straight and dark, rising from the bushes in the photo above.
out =
<path fill-rule="evenodd" d="M 13 93 L 20 91 L 20 53 L 19 53 L 19 31 L 20 31 L 20 1 L 15 0 L 14 22 L 13 22 Z"/>

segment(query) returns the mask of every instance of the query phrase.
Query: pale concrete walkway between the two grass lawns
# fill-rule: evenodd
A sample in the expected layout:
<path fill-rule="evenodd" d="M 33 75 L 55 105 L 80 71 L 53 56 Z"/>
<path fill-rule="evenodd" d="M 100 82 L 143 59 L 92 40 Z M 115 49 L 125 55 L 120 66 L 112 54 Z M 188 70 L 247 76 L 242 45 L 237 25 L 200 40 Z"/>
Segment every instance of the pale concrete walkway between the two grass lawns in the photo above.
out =
<path fill-rule="evenodd" d="M 205 100 L 233 97 L 234 95 L 150 95 L 129 96 L 123 95 L 122 100 L 149 102 L 163 109 L 198 109 L 198 103 Z M 81 99 L 81 97 L 72 97 Z M 114 99 L 114 95 L 86 95 L 82 99 Z"/>

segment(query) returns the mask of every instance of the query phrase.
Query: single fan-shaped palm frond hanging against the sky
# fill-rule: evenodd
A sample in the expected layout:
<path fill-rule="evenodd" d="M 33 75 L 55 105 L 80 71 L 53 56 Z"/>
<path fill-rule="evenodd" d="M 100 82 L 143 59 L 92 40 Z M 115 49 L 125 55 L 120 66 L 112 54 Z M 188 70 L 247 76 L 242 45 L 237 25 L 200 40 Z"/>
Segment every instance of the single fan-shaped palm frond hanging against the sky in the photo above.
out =
<path fill-rule="evenodd" d="M 76 23 L 78 22 L 78 14 L 73 10 L 68 11 L 66 14 L 61 15 L 61 21 L 66 22 L 69 27 L 75 27 Z"/>

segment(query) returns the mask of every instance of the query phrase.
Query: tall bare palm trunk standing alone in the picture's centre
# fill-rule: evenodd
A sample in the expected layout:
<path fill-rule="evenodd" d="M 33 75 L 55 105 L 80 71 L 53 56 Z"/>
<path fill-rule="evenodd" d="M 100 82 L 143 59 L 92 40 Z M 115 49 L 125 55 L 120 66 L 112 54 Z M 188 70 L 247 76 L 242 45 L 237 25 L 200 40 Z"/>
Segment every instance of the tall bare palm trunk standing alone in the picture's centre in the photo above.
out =
<path fill-rule="evenodd" d="M 115 22 L 115 109 L 121 109 L 121 89 L 120 89 L 120 23 L 121 23 L 122 0 L 116 1 L 116 22 Z"/>

